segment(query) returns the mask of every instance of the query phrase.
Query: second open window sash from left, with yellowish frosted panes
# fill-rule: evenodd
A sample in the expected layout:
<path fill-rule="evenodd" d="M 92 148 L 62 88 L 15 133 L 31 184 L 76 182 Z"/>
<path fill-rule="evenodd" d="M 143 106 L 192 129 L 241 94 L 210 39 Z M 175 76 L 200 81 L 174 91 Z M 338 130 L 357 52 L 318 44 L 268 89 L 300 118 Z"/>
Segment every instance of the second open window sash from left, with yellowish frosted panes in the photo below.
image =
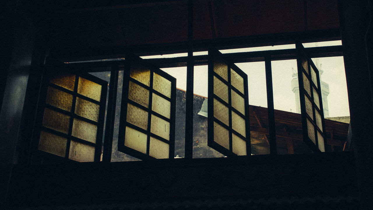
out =
<path fill-rule="evenodd" d="M 141 160 L 174 158 L 176 78 L 126 56 L 118 151 Z"/>

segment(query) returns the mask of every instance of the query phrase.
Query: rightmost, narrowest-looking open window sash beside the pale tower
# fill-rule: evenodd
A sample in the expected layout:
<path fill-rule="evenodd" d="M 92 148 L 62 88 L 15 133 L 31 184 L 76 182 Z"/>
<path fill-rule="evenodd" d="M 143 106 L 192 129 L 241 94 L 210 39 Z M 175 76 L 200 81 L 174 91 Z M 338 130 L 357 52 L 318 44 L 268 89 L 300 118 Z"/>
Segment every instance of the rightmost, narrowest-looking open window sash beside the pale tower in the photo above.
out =
<path fill-rule="evenodd" d="M 313 152 L 325 152 L 325 122 L 319 70 L 305 53 L 301 43 L 297 43 L 296 48 L 303 141 Z"/>

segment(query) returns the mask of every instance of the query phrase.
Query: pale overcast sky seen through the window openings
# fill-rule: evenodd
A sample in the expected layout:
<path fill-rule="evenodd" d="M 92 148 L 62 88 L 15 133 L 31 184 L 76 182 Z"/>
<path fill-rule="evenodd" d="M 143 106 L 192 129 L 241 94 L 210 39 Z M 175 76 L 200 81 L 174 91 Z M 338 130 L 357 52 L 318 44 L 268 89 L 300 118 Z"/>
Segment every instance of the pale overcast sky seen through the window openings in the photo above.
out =
<path fill-rule="evenodd" d="M 341 41 L 306 43 L 305 47 L 341 45 Z M 275 50 L 295 48 L 295 44 L 251 47 L 242 49 L 220 50 L 222 53 L 252 52 L 259 50 Z M 206 55 L 207 52 L 195 52 L 194 55 Z M 186 56 L 178 53 L 162 56 L 144 56 L 142 58 L 172 58 Z M 317 59 L 313 59 L 316 63 Z M 347 85 L 343 57 L 318 58 L 324 71 L 321 80 L 329 84 L 329 117 L 350 116 L 348 107 Z M 291 90 L 292 68 L 297 71 L 296 60 L 272 61 L 273 102 L 275 109 L 296 112 L 295 94 Z M 248 75 L 249 104 L 267 107 L 266 77 L 264 62 L 236 64 Z M 176 87 L 186 90 L 186 67 L 162 68 L 176 78 Z M 194 67 L 194 94 L 207 97 L 207 65 Z"/>

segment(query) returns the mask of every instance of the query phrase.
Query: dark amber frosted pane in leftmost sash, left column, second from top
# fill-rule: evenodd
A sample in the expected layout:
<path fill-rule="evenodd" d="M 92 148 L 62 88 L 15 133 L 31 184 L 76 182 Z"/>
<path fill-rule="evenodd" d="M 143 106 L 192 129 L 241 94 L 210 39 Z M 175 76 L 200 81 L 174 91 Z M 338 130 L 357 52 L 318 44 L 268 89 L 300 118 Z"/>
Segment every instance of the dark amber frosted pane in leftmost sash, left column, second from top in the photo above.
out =
<path fill-rule="evenodd" d="M 66 111 L 71 111 L 72 95 L 53 87 L 48 87 L 46 104 Z"/>

